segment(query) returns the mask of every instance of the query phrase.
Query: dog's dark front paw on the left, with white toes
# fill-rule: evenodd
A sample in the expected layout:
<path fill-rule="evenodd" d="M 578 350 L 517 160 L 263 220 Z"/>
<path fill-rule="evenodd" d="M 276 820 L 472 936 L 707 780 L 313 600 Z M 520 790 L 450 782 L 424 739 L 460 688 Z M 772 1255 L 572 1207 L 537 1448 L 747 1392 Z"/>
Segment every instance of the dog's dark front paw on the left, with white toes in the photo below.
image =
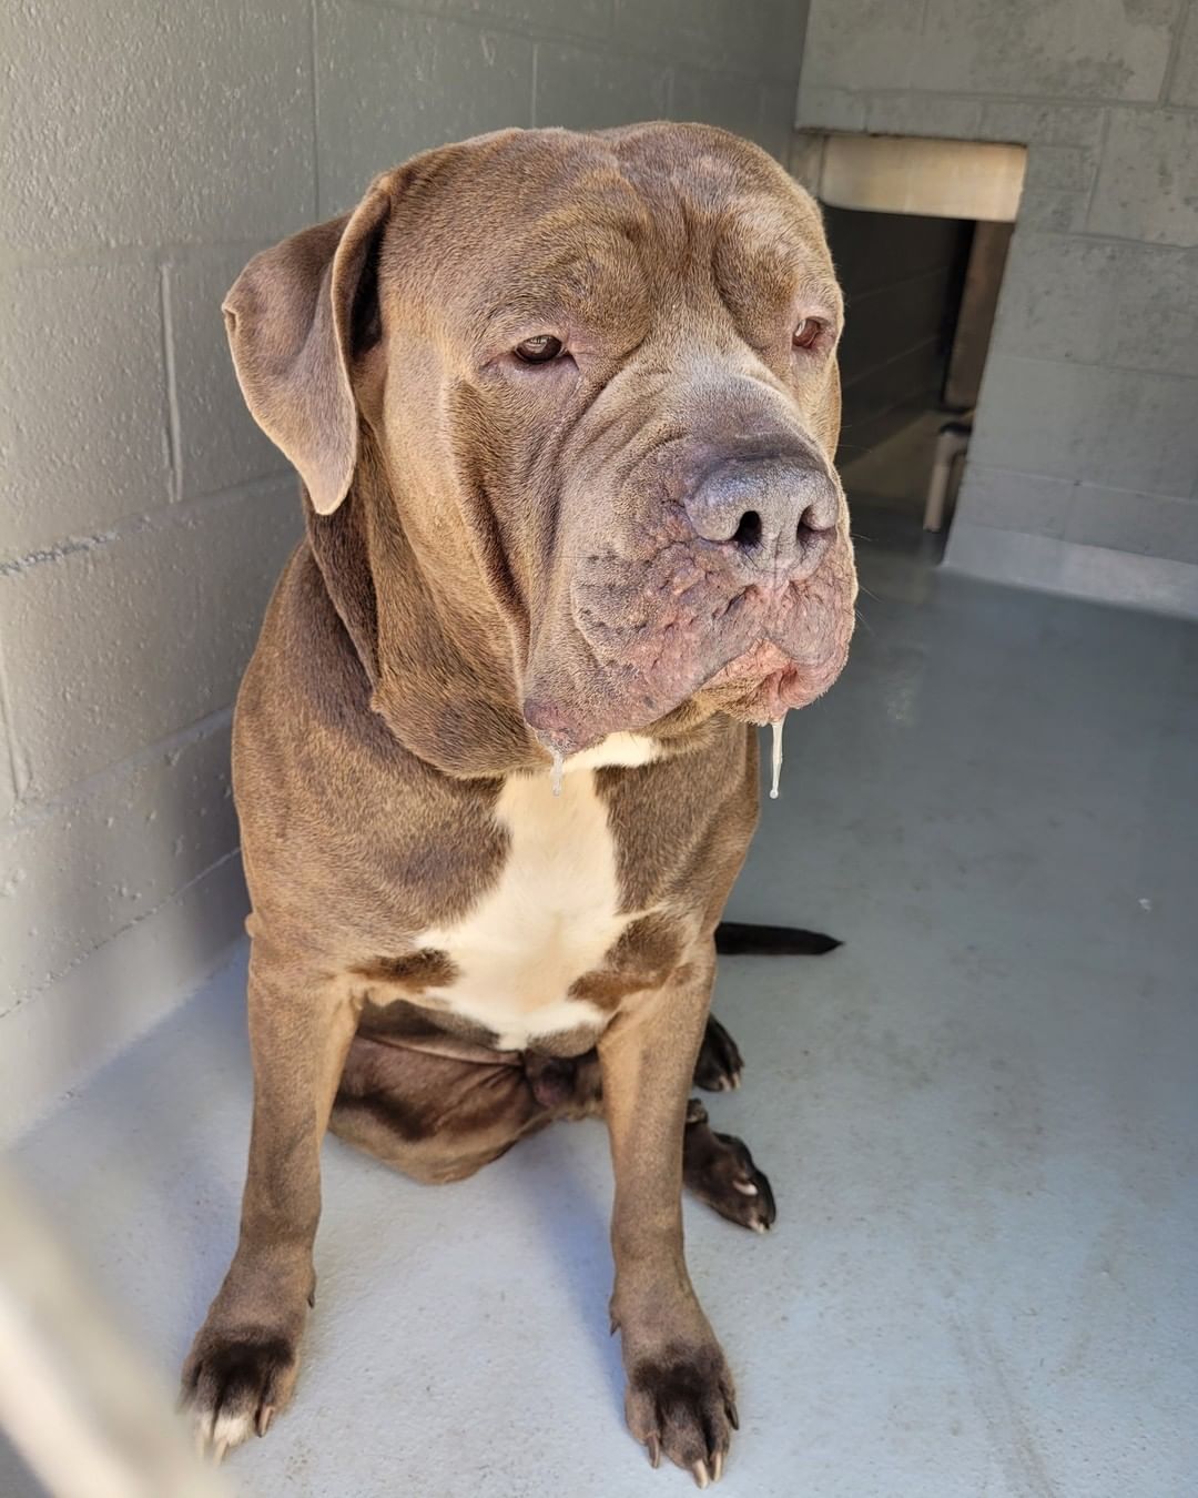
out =
<path fill-rule="evenodd" d="M 300 1369 L 292 1338 L 259 1327 L 204 1327 L 183 1368 L 180 1405 L 196 1450 L 220 1462 L 250 1435 L 265 1435 L 291 1399 Z"/>

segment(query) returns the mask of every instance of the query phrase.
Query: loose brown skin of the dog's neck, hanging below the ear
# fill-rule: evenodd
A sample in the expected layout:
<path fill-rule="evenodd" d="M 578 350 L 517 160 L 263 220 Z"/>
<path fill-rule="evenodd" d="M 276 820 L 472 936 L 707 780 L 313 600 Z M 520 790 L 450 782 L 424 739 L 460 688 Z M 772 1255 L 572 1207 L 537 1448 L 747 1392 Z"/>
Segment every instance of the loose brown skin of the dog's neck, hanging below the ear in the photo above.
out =
<path fill-rule="evenodd" d="M 548 768 L 520 712 L 509 625 L 469 538 L 442 533 L 430 557 L 370 452 L 334 514 L 317 515 L 307 497 L 304 509 L 325 587 L 370 679 L 370 706 L 400 743 L 455 777 Z"/>

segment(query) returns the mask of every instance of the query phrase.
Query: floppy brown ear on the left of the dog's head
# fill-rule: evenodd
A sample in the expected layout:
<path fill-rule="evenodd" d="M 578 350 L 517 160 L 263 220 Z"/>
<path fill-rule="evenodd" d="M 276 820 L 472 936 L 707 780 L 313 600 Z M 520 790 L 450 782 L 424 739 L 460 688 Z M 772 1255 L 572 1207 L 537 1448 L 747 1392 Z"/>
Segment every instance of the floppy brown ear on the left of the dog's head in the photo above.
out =
<path fill-rule="evenodd" d="M 329 515 L 358 461 L 350 360 L 379 339 L 377 256 L 389 174 L 352 214 L 256 255 L 222 304 L 241 392 Z"/>

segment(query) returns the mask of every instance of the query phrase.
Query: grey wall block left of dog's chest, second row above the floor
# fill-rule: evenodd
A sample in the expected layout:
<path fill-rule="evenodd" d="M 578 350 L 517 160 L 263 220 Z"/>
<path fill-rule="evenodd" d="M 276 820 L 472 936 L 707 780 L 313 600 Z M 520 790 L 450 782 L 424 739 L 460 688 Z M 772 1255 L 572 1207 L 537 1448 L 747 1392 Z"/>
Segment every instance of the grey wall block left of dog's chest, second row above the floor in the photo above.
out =
<path fill-rule="evenodd" d="M 4 828 L 3 998 L 52 983 L 235 846 L 228 718 Z"/>

